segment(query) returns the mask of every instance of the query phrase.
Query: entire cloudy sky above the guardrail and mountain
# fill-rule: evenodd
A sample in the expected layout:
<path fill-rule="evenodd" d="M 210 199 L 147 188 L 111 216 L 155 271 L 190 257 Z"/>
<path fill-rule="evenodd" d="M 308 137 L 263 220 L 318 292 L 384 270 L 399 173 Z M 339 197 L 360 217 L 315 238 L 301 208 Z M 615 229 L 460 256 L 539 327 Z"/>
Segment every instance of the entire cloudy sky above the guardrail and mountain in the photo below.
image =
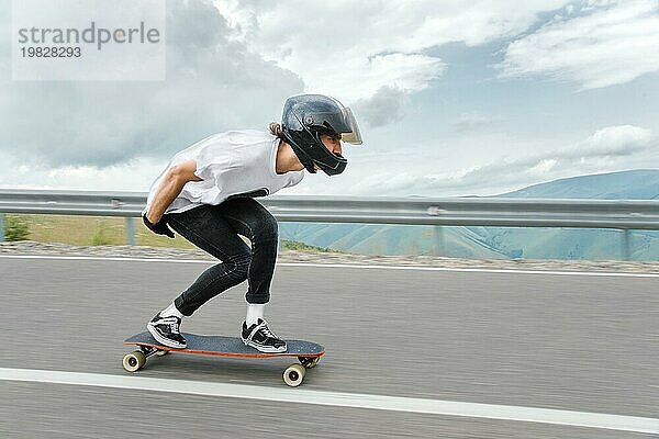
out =
<path fill-rule="evenodd" d="M 658 0 L 172 0 L 165 81 L 12 81 L 9 0 L 0 33 L 3 188 L 146 191 L 178 150 L 265 130 L 301 92 L 350 105 L 365 143 L 291 194 L 659 168 Z"/>

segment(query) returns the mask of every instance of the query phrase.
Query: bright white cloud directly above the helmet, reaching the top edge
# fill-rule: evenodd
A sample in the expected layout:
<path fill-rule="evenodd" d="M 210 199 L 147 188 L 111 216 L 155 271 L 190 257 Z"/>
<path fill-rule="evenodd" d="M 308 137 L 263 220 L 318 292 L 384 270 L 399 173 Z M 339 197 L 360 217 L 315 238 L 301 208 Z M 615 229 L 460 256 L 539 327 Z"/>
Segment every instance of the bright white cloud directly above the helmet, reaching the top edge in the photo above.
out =
<path fill-rule="evenodd" d="M 446 68 L 424 53 L 450 42 L 474 46 L 526 30 L 566 0 L 362 1 L 216 0 L 233 37 L 290 69 L 309 91 L 348 102 L 382 87 L 423 90 Z"/>

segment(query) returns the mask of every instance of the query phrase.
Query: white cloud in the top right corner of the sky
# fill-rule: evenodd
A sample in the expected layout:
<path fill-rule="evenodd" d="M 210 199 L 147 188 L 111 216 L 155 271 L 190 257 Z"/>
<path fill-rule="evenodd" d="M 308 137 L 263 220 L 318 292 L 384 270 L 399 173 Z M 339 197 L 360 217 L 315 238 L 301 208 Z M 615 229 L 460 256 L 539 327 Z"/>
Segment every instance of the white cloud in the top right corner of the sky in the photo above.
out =
<path fill-rule="evenodd" d="M 629 82 L 659 71 L 656 0 L 593 1 L 512 42 L 498 65 L 502 77 L 541 75 L 582 89 Z"/>

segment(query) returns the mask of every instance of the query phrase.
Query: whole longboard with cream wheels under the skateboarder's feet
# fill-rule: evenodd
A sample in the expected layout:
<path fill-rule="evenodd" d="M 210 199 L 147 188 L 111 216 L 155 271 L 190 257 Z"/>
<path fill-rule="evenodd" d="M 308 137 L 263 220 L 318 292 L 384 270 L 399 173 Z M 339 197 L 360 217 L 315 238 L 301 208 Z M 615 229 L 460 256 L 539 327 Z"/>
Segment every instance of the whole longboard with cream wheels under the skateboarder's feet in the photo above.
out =
<path fill-rule="evenodd" d="M 201 336 L 181 333 L 186 338 L 187 347 L 169 348 L 156 341 L 149 333 L 141 333 L 124 340 L 124 345 L 134 345 L 136 350 L 129 352 L 123 358 L 123 368 L 127 372 L 137 372 L 146 364 L 146 359 L 152 356 L 163 357 L 169 352 L 199 353 L 205 356 L 239 357 L 239 358 L 273 358 L 297 357 L 299 363 L 291 364 L 283 371 L 283 382 L 291 387 L 302 384 L 309 369 L 313 369 L 325 348 L 319 344 L 304 340 L 287 340 L 286 352 L 260 352 L 250 346 L 245 346 L 237 337 Z"/>

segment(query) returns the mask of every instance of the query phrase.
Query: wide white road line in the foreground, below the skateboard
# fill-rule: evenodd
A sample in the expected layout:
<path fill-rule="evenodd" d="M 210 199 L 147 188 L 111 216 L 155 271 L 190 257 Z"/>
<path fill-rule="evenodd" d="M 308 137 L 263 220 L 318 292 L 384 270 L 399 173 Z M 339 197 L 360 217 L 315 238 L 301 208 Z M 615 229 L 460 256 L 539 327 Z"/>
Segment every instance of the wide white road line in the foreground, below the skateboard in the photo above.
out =
<path fill-rule="evenodd" d="M 0 381 L 130 389 L 659 434 L 659 419 L 655 418 L 359 393 L 311 391 L 304 389 L 260 387 L 246 384 L 167 380 L 136 375 L 122 376 L 100 373 L 5 368 L 0 368 Z"/>

